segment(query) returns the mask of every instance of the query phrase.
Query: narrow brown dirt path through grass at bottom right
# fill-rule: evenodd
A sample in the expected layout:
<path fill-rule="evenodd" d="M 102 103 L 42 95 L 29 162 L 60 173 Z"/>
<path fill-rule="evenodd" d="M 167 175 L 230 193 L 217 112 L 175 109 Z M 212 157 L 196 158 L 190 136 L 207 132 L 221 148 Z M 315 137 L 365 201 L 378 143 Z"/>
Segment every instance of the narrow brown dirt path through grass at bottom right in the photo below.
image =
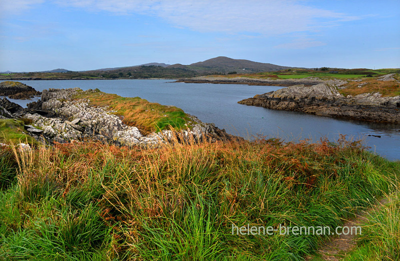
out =
<path fill-rule="evenodd" d="M 360 226 L 368 221 L 368 214 L 372 211 L 379 210 L 384 204 L 388 202 L 387 198 L 381 199 L 371 208 L 361 211 L 356 215 L 357 217 L 353 220 L 349 220 L 344 223 L 341 227 L 356 227 Z M 356 246 L 355 241 L 356 235 L 340 235 L 332 238 L 324 246 L 319 248 L 315 256 L 307 257 L 305 260 L 313 260 L 315 257 L 320 257 L 322 260 L 338 261 L 342 260 L 351 250 Z M 319 260 L 320 260 L 319 259 Z"/>

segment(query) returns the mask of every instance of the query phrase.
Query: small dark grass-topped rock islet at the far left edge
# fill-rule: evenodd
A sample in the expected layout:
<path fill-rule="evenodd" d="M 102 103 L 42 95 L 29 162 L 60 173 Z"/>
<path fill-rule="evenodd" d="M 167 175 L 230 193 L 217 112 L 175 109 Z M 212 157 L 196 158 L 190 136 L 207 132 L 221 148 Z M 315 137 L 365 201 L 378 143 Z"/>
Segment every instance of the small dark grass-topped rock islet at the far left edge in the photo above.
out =
<path fill-rule="evenodd" d="M 41 92 L 36 91 L 32 87 L 17 81 L 0 82 L 0 96 L 8 96 L 10 99 L 30 99 L 40 95 Z"/>

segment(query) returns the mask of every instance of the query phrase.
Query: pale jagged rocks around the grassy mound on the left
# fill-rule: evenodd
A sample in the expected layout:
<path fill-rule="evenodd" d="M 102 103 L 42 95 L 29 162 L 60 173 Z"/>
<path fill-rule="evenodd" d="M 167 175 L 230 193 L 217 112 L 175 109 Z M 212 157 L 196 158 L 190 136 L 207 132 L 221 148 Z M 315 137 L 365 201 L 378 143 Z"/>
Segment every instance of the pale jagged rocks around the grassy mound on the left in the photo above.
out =
<path fill-rule="evenodd" d="M 6 98 L 0 99 L 0 118 L 29 122 L 25 125 L 26 132 L 48 144 L 97 140 L 115 145 L 147 146 L 171 142 L 174 137 L 178 141 L 200 141 L 204 138 L 225 140 L 233 137 L 213 124 L 200 122 L 194 116 L 191 116 L 191 129 L 180 132 L 162 130 L 143 135 L 138 128 L 124 124 L 106 107 L 92 107 L 87 99 L 73 100 L 72 96 L 77 92 L 83 91 L 79 88 L 43 90 L 41 99 L 29 103 L 27 109 Z"/>

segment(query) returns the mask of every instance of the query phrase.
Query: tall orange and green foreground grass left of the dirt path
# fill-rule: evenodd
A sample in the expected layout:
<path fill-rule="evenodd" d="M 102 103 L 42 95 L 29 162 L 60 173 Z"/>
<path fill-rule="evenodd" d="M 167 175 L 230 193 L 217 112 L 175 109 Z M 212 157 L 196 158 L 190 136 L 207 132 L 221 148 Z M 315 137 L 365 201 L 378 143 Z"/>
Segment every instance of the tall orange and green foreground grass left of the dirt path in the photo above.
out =
<path fill-rule="evenodd" d="M 5 260 L 301 260 L 322 236 L 232 235 L 232 225 L 334 228 L 400 175 L 344 139 L 73 143 L 8 148 L 0 161 Z"/>

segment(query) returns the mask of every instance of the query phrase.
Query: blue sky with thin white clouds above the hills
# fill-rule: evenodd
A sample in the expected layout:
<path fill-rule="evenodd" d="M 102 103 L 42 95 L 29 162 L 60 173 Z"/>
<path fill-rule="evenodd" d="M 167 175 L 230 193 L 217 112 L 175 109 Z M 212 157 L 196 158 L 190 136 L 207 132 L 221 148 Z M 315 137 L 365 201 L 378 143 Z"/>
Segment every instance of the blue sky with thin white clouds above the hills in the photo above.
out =
<path fill-rule="evenodd" d="M 0 71 L 216 56 L 400 67 L 400 0 L 0 0 Z"/>

